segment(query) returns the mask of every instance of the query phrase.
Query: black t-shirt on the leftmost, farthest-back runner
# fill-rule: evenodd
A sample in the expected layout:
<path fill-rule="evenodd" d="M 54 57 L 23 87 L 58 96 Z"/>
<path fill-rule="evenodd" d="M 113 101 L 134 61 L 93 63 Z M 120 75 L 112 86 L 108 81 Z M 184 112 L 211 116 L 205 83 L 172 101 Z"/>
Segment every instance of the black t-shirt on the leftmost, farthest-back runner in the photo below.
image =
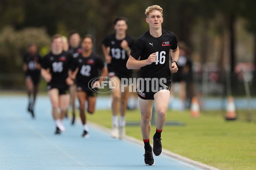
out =
<path fill-rule="evenodd" d="M 23 57 L 23 62 L 28 66 L 28 69 L 25 73 L 26 76 L 40 76 L 40 69 L 36 68 L 37 64 L 41 64 L 42 62 L 42 57 L 39 54 L 36 54 L 35 56 L 26 54 Z"/>

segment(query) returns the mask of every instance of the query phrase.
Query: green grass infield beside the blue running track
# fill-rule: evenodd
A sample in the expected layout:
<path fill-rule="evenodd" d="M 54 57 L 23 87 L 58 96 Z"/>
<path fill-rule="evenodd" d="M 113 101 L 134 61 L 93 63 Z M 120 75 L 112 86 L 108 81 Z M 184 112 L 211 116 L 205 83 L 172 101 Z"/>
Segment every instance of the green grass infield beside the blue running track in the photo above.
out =
<path fill-rule="evenodd" d="M 220 170 L 256 170 L 256 123 L 247 122 L 247 111 L 237 111 L 236 121 L 225 121 L 224 112 L 202 113 L 192 118 L 189 111 L 167 111 L 167 122 L 177 121 L 184 126 L 166 125 L 162 133 L 163 148 L 200 161 Z M 256 115 L 254 115 L 256 117 Z M 87 118 L 111 128 L 111 111 L 96 111 Z M 128 111 L 127 122 L 140 122 L 140 111 Z M 151 137 L 155 132 L 152 125 Z M 140 126 L 127 126 L 126 134 L 142 140 Z"/>

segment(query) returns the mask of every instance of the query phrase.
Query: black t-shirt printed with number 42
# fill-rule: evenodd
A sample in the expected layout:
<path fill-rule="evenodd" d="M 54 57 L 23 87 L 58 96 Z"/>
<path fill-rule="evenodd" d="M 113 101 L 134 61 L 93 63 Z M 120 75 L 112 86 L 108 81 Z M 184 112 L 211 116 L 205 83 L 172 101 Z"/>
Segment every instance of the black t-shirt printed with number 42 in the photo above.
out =
<path fill-rule="evenodd" d="M 79 54 L 78 57 L 73 59 L 71 71 L 75 71 L 79 68 L 76 74 L 77 85 L 87 86 L 91 79 L 99 76 L 99 69 L 104 67 L 104 62 L 96 54 L 91 54 L 89 57 L 82 57 Z"/>

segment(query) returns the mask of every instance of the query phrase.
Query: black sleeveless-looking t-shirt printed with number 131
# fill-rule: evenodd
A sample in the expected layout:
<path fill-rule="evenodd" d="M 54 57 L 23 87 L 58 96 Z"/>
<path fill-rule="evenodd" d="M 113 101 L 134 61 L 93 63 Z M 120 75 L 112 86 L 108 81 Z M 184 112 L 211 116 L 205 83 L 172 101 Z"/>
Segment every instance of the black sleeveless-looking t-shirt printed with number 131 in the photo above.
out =
<path fill-rule="evenodd" d="M 128 46 L 131 48 L 134 45 L 135 39 L 126 35 L 125 39 Z M 108 64 L 108 72 L 116 72 L 119 74 L 129 75 L 131 77 L 132 70 L 126 68 L 126 62 L 129 58 L 127 52 L 120 46 L 122 40 L 116 40 L 116 34 L 110 34 L 102 41 L 106 47 L 110 47 L 111 63 Z"/>

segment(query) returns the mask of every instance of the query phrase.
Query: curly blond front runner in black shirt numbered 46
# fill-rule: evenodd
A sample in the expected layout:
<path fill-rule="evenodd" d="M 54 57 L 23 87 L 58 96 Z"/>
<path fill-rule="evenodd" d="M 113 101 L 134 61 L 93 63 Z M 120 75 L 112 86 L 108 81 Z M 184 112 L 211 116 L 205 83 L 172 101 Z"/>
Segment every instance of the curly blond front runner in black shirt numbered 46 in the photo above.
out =
<path fill-rule="evenodd" d="M 140 127 L 145 144 L 144 160 L 146 165 L 154 165 L 152 148 L 149 144 L 152 108 L 155 102 L 157 128 L 153 136 L 153 152 L 159 156 L 162 153 L 160 137 L 166 121 L 166 110 L 170 99 L 171 72 L 177 72 L 179 48 L 175 35 L 172 32 L 162 30 L 163 9 L 157 5 L 149 6 L 145 10 L 145 14 L 149 31 L 136 40 L 127 62 L 127 68 L 141 68 L 140 77 L 143 81 L 140 82 L 137 91 L 141 113 Z M 173 59 L 171 69 L 169 68 L 170 50 L 172 50 Z M 139 58 L 140 60 L 138 60 Z"/>

